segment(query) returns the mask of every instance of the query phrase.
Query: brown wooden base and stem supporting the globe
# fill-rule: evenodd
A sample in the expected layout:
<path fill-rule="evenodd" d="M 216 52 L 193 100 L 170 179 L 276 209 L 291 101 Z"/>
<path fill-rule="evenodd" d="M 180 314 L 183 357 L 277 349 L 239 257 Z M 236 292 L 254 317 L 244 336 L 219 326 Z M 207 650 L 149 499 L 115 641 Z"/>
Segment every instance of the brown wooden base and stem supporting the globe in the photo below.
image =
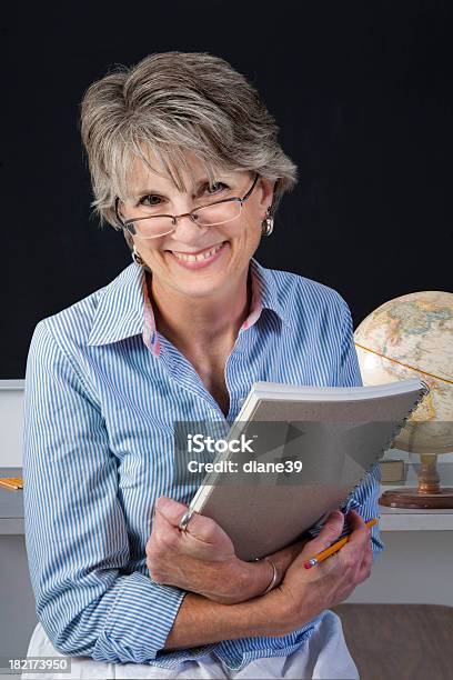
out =
<path fill-rule="evenodd" d="M 421 456 L 417 489 L 384 491 L 379 503 L 387 508 L 449 509 L 453 508 L 453 489 L 442 488 L 437 473 L 437 456 Z"/>

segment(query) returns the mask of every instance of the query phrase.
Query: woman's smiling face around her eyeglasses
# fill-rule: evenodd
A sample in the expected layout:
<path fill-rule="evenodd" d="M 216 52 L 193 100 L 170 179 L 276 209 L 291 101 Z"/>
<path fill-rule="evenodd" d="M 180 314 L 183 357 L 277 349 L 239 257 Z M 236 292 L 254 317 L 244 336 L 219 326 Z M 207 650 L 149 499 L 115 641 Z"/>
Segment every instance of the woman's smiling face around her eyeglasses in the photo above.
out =
<path fill-rule="evenodd" d="M 213 201 L 242 198 L 252 187 L 255 174 L 250 172 L 220 172 L 210 187 L 203 163 L 193 154 L 189 158 L 194 177 L 184 174 L 187 192 L 179 191 L 170 178 L 154 173 L 138 159 L 130 177 L 131 198 L 119 203 L 122 220 L 143 216 L 144 210 L 154 216 L 179 216 Z M 152 271 L 154 283 L 189 297 L 231 289 L 248 271 L 260 243 L 261 222 L 272 194 L 272 182 L 259 177 L 242 212 L 230 222 L 199 226 L 183 217 L 172 233 L 152 239 L 133 236 L 135 249 Z M 209 251 L 211 256 L 204 259 Z"/>

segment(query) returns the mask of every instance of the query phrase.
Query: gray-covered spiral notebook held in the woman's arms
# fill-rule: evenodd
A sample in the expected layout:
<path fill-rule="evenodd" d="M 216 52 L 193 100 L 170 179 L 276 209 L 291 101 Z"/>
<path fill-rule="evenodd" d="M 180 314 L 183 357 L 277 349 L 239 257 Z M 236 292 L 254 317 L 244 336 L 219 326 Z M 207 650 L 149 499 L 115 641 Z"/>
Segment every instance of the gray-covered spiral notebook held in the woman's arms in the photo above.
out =
<path fill-rule="evenodd" d="M 284 548 L 348 502 L 429 391 L 421 379 L 352 388 L 254 382 L 226 436 L 242 449 L 213 459 L 217 470 L 181 529 L 193 512 L 214 519 L 242 560 Z"/>

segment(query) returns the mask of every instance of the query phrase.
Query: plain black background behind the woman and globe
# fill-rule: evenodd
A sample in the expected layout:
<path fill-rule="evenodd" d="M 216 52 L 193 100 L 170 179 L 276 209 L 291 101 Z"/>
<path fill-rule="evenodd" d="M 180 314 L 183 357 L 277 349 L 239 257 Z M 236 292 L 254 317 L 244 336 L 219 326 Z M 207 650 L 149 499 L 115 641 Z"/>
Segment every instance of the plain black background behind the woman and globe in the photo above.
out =
<path fill-rule="evenodd" d="M 1 28 L 0 379 L 37 322 L 110 282 L 123 237 L 90 217 L 83 91 L 114 63 L 208 51 L 258 87 L 299 166 L 255 253 L 336 289 L 354 328 L 417 290 L 453 292 L 452 12 L 426 2 L 14 3 Z"/>

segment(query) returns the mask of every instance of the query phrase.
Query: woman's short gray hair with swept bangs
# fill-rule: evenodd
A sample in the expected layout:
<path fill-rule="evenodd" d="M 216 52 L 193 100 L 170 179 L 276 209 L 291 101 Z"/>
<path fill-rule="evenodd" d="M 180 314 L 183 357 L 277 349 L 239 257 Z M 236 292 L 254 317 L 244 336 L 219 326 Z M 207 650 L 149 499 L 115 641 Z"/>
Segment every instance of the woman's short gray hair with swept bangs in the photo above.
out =
<path fill-rule="evenodd" d="M 281 149 L 279 128 L 256 89 L 207 52 L 154 53 L 131 68 L 115 66 L 84 92 L 80 113 L 91 207 L 101 226 L 121 228 L 114 201 L 129 198 L 128 177 L 138 158 L 179 191 L 187 191 L 182 172 L 192 177 L 188 151 L 211 182 L 219 169 L 259 172 L 275 182 L 272 214 L 296 183 L 296 166 Z M 147 150 L 160 169 L 152 168 Z"/>

